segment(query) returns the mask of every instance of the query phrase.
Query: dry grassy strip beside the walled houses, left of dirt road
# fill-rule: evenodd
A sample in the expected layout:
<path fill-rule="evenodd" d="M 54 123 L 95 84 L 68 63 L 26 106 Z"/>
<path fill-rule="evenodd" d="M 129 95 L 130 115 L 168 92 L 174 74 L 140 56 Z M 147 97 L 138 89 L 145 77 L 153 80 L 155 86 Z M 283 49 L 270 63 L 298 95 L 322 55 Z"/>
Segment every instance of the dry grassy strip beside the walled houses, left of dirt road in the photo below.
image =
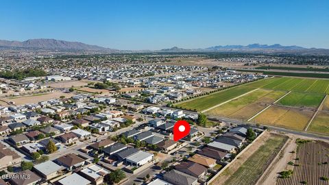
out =
<path fill-rule="evenodd" d="M 255 184 L 287 139 L 287 136 L 272 134 L 223 184 Z"/>

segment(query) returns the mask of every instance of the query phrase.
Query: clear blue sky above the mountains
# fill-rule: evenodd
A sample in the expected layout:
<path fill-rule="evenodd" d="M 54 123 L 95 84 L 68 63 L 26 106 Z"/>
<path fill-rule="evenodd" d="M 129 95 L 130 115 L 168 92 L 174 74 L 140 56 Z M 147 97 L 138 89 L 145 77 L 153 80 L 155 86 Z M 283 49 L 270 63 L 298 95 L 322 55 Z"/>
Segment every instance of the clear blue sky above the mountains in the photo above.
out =
<path fill-rule="evenodd" d="M 329 1 L 0 1 L 0 39 L 55 38 L 115 49 L 252 43 L 329 49 Z"/>

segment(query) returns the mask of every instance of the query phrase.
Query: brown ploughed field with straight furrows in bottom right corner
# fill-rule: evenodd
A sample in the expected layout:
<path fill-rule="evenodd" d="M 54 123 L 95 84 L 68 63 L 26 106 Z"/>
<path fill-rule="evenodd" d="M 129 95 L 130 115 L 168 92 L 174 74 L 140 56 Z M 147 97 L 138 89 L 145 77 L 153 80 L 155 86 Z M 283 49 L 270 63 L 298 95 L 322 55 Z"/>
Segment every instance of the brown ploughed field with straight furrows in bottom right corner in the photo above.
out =
<path fill-rule="evenodd" d="M 293 161 L 295 164 L 293 166 L 293 175 L 287 178 L 279 177 L 277 184 L 328 184 L 328 181 L 321 180 L 321 177 L 329 176 L 328 156 L 328 143 L 310 141 L 298 144 L 297 155 Z"/>

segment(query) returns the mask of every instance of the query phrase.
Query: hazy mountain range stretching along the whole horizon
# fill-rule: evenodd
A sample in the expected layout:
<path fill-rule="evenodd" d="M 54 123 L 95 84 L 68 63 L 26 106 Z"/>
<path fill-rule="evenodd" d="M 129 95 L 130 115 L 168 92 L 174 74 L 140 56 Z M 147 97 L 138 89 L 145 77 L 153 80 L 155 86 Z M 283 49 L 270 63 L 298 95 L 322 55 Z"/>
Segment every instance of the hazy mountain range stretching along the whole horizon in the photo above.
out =
<path fill-rule="evenodd" d="M 29 39 L 23 42 L 0 40 L 0 49 L 47 49 L 47 50 L 77 50 L 77 51 L 99 51 L 99 52 L 243 52 L 243 53 L 303 53 L 303 54 L 329 54 L 329 49 L 305 48 L 299 46 L 282 46 L 275 45 L 217 45 L 204 49 L 184 49 L 180 47 L 172 47 L 169 49 L 160 49 L 156 51 L 122 51 L 119 49 L 109 49 L 99 47 L 97 45 L 87 45 L 82 42 L 69 42 L 65 40 L 55 39 Z"/>

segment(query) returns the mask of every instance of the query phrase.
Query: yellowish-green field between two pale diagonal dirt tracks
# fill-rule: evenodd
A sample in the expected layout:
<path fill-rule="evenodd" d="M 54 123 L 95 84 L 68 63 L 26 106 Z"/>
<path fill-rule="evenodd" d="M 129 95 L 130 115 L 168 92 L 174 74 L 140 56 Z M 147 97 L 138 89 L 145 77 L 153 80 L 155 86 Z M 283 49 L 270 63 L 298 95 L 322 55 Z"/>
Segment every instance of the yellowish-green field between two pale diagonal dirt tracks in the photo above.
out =
<path fill-rule="evenodd" d="M 282 97 L 285 93 L 284 91 L 258 89 L 239 99 L 234 99 L 222 106 L 209 110 L 206 114 L 221 115 L 236 119 L 249 119 Z"/>

